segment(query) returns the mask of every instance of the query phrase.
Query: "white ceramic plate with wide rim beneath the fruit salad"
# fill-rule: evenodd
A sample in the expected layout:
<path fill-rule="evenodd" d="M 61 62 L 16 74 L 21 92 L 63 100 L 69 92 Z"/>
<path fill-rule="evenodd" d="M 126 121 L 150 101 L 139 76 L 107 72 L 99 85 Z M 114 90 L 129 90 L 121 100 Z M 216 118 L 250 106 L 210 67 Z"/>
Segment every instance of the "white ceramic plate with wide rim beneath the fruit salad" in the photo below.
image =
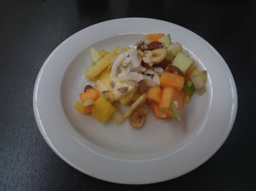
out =
<path fill-rule="evenodd" d="M 150 114 L 135 130 L 127 123 L 103 125 L 75 110 L 89 84 L 84 71 L 91 63 L 90 47 L 111 50 L 160 32 L 171 34 L 209 74 L 207 93 L 185 106 L 183 125 Z M 237 93 L 223 58 L 197 34 L 161 20 L 126 18 L 90 26 L 61 43 L 38 74 L 33 105 L 41 134 L 68 164 L 102 180 L 145 184 L 179 177 L 208 160 L 230 133 Z"/>

